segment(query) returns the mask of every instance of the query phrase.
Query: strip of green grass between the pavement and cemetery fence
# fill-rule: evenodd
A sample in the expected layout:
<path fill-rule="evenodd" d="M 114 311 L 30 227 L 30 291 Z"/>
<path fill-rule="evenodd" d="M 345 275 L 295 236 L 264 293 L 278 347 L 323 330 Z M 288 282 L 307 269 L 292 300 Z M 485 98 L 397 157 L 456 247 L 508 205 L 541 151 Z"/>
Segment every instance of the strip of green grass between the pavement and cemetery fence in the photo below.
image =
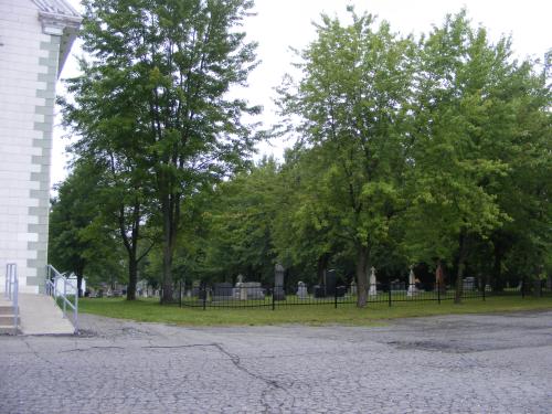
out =
<path fill-rule="evenodd" d="M 383 325 L 388 319 L 411 318 L 421 316 L 449 314 L 485 314 L 517 310 L 552 309 L 552 297 L 533 298 L 519 296 L 499 296 L 481 299 L 467 299 L 461 305 L 452 300 L 412 301 L 371 305 L 359 309 L 354 305 L 320 306 L 279 306 L 245 309 L 206 309 L 179 308 L 178 306 L 160 306 L 158 299 L 140 299 L 127 301 L 124 298 L 84 298 L 78 300 L 81 312 L 106 316 L 110 318 L 132 319 L 147 322 L 164 322 L 181 326 L 259 326 L 259 325 Z"/>

